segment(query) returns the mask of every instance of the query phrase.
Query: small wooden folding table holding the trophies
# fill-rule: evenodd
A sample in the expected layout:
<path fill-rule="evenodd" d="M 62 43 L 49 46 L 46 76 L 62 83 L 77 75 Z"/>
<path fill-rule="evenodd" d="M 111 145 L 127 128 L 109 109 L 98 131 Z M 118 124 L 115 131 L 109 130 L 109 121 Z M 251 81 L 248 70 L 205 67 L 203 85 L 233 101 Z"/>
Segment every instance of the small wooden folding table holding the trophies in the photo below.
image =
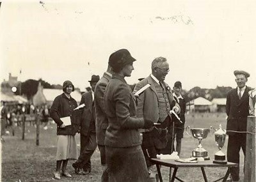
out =
<path fill-rule="evenodd" d="M 225 174 L 225 176 L 223 178 L 217 179 L 216 181 L 220 181 L 221 179 L 223 179 L 223 181 L 226 181 L 228 178 L 228 174 L 230 173 L 230 167 L 237 167 L 238 164 L 237 163 L 232 163 L 232 162 L 227 162 L 227 164 L 217 164 L 217 163 L 212 163 L 212 160 L 205 160 L 202 162 L 198 162 L 198 163 L 181 163 L 181 162 L 175 162 L 174 159 L 157 159 L 157 158 L 152 158 L 151 161 L 153 163 L 156 164 L 157 167 L 157 172 L 159 175 L 159 179 L 161 182 L 163 182 L 163 178 L 161 176 L 161 171 L 160 171 L 160 167 L 159 165 L 164 165 L 166 167 L 170 167 L 170 168 L 174 168 L 173 174 L 172 174 L 172 179 L 171 182 L 174 181 L 174 179 L 177 179 L 179 181 L 182 181 L 181 179 L 176 177 L 176 173 L 179 167 L 200 167 L 202 174 L 204 176 L 204 181 L 207 182 L 207 176 L 205 174 L 204 171 L 204 167 L 228 167 L 227 172 Z M 170 174 L 171 175 L 171 174 Z M 216 182 L 214 181 L 214 182 Z"/>

